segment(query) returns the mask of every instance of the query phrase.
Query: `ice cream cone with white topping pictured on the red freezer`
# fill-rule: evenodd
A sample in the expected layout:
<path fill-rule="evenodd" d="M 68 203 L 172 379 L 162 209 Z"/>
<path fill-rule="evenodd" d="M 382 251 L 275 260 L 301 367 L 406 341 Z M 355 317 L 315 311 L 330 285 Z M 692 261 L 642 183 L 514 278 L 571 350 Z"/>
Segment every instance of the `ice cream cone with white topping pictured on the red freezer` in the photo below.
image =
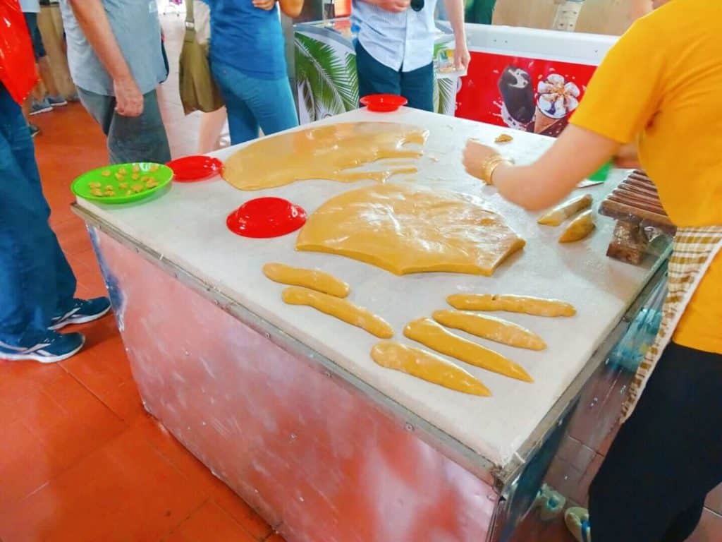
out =
<path fill-rule="evenodd" d="M 549 74 L 536 88 L 534 132 L 557 137 L 567 125 L 570 113 L 579 106 L 579 87 L 560 74 Z"/>

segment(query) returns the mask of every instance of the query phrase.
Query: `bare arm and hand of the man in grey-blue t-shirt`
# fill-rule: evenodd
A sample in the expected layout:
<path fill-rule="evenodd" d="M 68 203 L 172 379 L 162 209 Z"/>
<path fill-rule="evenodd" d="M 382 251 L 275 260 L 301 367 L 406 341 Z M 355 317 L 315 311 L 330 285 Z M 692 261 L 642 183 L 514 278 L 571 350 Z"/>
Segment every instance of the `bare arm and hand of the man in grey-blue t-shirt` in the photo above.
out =
<path fill-rule="evenodd" d="M 68 4 L 85 38 L 113 79 L 116 111 L 123 116 L 139 116 L 143 112 L 143 95 L 118 47 L 103 3 L 100 0 L 68 0 Z"/>

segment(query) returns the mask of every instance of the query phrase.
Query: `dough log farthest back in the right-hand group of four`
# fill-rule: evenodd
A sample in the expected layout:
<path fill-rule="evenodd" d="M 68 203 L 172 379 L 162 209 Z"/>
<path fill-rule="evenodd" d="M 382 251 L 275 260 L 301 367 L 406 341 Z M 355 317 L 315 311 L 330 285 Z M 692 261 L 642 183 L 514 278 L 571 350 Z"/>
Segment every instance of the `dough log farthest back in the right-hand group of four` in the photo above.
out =
<path fill-rule="evenodd" d="M 487 294 L 457 293 L 446 301 L 460 311 L 505 311 L 543 317 L 572 317 L 577 314 L 573 305 L 557 299 L 523 296 L 494 296 Z"/>

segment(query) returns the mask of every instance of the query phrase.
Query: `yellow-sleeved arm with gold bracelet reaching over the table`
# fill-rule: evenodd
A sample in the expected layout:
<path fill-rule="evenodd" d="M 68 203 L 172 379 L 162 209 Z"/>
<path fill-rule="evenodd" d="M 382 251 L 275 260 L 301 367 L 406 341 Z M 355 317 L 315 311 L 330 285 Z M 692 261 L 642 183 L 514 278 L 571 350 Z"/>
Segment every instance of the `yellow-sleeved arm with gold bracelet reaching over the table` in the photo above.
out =
<path fill-rule="evenodd" d="M 638 135 L 658 112 L 665 88 L 666 51 L 653 20 L 635 24 L 596 69 L 581 103 L 554 145 L 531 165 L 514 166 L 470 140 L 464 166 L 511 202 L 541 210 L 565 197 L 610 158 L 636 167 Z"/>

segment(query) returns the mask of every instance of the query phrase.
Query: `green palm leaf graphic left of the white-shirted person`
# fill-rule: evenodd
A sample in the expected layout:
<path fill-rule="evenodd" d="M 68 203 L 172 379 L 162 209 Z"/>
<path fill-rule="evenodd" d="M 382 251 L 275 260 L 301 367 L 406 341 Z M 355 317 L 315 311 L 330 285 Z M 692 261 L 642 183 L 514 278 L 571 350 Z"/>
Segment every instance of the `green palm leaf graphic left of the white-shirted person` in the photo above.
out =
<path fill-rule="evenodd" d="M 312 121 L 358 107 L 355 59 L 339 56 L 327 43 L 295 35 L 297 83 Z M 310 95 L 308 95 L 310 93 Z"/>

